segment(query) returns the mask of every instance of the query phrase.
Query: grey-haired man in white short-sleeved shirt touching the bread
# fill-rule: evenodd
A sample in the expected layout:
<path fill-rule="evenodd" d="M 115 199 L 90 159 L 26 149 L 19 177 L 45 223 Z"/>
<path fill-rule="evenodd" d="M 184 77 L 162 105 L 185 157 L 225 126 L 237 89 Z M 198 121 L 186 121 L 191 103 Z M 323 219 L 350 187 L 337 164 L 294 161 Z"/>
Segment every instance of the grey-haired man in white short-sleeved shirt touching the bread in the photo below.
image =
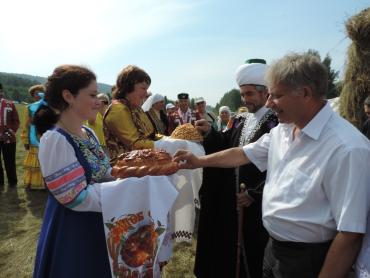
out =
<path fill-rule="evenodd" d="M 316 57 L 287 55 L 266 79 L 276 128 L 243 148 L 204 157 L 179 151 L 175 160 L 183 168 L 267 169 L 264 277 L 346 277 L 370 209 L 369 141 L 324 100 L 327 72 Z"/>

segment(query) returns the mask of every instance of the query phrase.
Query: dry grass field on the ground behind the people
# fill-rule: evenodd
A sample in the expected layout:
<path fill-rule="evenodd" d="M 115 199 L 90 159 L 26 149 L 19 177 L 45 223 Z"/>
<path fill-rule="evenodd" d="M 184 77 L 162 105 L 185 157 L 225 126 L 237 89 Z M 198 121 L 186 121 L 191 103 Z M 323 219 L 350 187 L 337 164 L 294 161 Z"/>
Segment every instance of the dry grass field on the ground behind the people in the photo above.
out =
<path fill-rule="evenodd" d="M 24 106 L 17 106 L 23 122 Z M 22 124 L 21 124 L 22 126 Z M 25 151 L 17 143 L 18 187 L 0 187 L 0 277 L 32 277 L 35 249 L 46 201 L 46 192 L 26 191 L 22 184 Z M 195 255 L 195 242 L 176 244 L 174 255 L 165 267 L 164 278 L 191 278 Z M 82 278 L 82 277 L 81 277 Z"/>

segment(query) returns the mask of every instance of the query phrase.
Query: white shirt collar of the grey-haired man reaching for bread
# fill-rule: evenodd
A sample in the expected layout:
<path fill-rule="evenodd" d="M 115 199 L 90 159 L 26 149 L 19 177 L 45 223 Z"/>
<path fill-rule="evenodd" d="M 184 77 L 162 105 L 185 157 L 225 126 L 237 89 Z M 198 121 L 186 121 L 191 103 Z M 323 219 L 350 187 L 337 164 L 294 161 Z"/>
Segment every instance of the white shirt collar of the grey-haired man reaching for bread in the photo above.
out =
<path fill-rule="evenodd" d="M 317 140 L 333 113 L 329 102 L 326 102 L 324 107 L 321 108 L 315 117 L 313 117 L 301 131 L 312 139 Z"/>

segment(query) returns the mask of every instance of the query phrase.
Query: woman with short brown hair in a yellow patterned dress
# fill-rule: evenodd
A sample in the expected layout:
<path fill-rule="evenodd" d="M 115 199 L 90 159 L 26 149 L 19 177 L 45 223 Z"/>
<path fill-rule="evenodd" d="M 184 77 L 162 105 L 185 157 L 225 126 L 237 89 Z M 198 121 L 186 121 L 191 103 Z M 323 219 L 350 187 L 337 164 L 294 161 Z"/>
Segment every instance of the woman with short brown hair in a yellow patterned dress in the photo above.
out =
<path fill-rule="evenodd" d="M 104 115 L 105 142 L 111 162 L 123 152 L 154 147 L 153 124 L 143 104 L 151 79 L 139 67 L 129 65 L 118 74 L 112 104 Z"/>

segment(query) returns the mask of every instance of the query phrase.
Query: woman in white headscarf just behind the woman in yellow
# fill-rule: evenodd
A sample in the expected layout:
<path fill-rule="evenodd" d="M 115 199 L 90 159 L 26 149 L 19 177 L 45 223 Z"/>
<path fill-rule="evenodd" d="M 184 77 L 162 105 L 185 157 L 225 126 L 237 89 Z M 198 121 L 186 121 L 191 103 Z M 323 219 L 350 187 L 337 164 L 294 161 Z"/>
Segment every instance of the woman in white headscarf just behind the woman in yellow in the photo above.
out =
<path fill-rule="evenodd" d="M 168 135 L 168 119 L 164 112 L 164 97 L 159 94 L 151 95 L 142 108 L 152 122 L 156 133 Z"/>

